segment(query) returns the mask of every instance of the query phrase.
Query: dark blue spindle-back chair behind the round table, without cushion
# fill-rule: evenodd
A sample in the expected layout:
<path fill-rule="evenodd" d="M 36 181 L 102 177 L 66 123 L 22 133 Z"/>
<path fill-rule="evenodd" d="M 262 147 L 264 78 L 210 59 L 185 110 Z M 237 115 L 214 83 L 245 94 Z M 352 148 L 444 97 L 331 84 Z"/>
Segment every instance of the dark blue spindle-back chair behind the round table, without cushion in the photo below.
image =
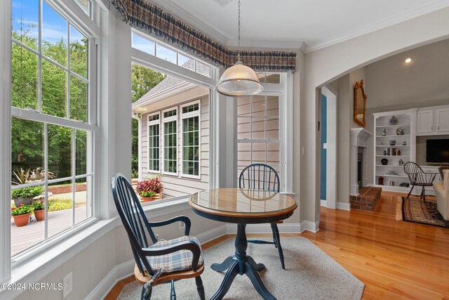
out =
<path fill-rule="evenodd" d="M 279 193 L 279 176 L 277 172 L 267 164 L 250 164 L 240 173 L 239 188 L 272 190 L 273 192 Z M 282 221 L 277 223 L 282 223 Z M 267 242 L 264 240 L 248 240 L 248 242 L 252 242 L 255 244 L 274 244 L 274 247 L 276 247 L 279 252 L 281 266 L 283 269 L 285 269 L 286 266 L 283 262 L 283 252 L 277 223 L 271 223 L 273 242 Z"/>

